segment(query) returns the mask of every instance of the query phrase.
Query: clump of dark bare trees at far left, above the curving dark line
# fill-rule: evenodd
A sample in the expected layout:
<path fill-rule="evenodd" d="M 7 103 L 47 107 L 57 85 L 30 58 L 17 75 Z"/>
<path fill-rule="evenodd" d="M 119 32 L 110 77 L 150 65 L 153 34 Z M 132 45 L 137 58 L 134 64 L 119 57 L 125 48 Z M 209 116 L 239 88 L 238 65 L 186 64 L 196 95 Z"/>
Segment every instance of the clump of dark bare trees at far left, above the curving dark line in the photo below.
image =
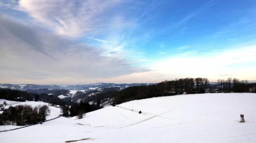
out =
<path fill-rule="evenodd" d="M 32 107 L 31 105 L 10 106 L 0 114 L 0 125 L 28 125 L 46 120 L 50 110 L 47 105 Z"/>

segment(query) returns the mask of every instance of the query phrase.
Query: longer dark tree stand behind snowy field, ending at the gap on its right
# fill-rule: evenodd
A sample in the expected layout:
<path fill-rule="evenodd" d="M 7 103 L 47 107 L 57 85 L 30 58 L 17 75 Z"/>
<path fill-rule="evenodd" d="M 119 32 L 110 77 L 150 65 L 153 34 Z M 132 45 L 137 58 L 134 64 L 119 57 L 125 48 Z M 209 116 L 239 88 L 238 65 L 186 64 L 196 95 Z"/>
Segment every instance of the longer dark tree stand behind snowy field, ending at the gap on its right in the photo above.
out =
<path fill-rule="evenodd" d="M 180 78 L 149 86 L 133 86 L 117 92 L 114 95 L 113 104 L 120 104 L 136 99 L 145 99 L 158 96 L 170 96 L 177 94 L 205 93 L 209 87 L 207 78 Z"/>

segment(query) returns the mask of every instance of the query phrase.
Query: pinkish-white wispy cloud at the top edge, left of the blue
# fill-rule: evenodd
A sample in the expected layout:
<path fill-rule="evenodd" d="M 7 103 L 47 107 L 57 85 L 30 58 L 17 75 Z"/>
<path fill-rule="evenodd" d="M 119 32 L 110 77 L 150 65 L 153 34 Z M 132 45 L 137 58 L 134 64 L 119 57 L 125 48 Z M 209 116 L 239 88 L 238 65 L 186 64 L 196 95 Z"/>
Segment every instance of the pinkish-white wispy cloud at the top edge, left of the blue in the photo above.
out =
<path fill-rule="evenodd" d="M 78 37 L 106 29 L 110 8 L 120 0 L 20 0 L 19 6 L 37 21 L 46 24 L 60 35 Z M 119 23 L 121 25 L 122 23 Z"/>

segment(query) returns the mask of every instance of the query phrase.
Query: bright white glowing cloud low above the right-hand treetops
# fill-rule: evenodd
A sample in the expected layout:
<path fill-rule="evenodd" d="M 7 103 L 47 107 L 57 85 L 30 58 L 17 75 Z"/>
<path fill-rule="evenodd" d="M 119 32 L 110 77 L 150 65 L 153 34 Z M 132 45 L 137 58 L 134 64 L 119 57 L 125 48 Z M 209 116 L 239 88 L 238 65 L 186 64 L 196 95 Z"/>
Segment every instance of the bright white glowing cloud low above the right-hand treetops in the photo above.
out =
<path fill-rule="evenodd" d="M 213 53 L 176 55 L 160 61 L 150 62 L 150 71 L 120 75 L 112 81 L 122 83 L 161 82 L 175 78 L 206 77 L 211 82 L 218 78 L 236 77 L 241 80 L 256 80 L 256 45 L 237 47 Z M 101 81 L 107 81 L 101 79 Z"/>

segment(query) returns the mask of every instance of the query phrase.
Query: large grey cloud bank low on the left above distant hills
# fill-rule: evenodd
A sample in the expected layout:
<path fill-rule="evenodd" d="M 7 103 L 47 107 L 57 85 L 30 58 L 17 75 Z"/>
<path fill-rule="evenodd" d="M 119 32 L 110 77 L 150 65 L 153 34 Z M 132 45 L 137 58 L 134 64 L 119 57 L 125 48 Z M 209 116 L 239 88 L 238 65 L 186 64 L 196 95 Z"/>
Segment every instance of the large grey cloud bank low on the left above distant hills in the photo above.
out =
<path fill-rule="evenodd" d="M 0 81 L 112 78 L 147 71 L 120 56 L 102 56 L 104 50 L 77 43 L 38 27 L 0 17 Z M 117 47 L 116 50 L 119 50 Z M 51 82 L 51 81 L 49 81 Z M 68 84 L 69 81 L 66 81 Z M 63 84 L 63 83 L 62 83 Z"/>

